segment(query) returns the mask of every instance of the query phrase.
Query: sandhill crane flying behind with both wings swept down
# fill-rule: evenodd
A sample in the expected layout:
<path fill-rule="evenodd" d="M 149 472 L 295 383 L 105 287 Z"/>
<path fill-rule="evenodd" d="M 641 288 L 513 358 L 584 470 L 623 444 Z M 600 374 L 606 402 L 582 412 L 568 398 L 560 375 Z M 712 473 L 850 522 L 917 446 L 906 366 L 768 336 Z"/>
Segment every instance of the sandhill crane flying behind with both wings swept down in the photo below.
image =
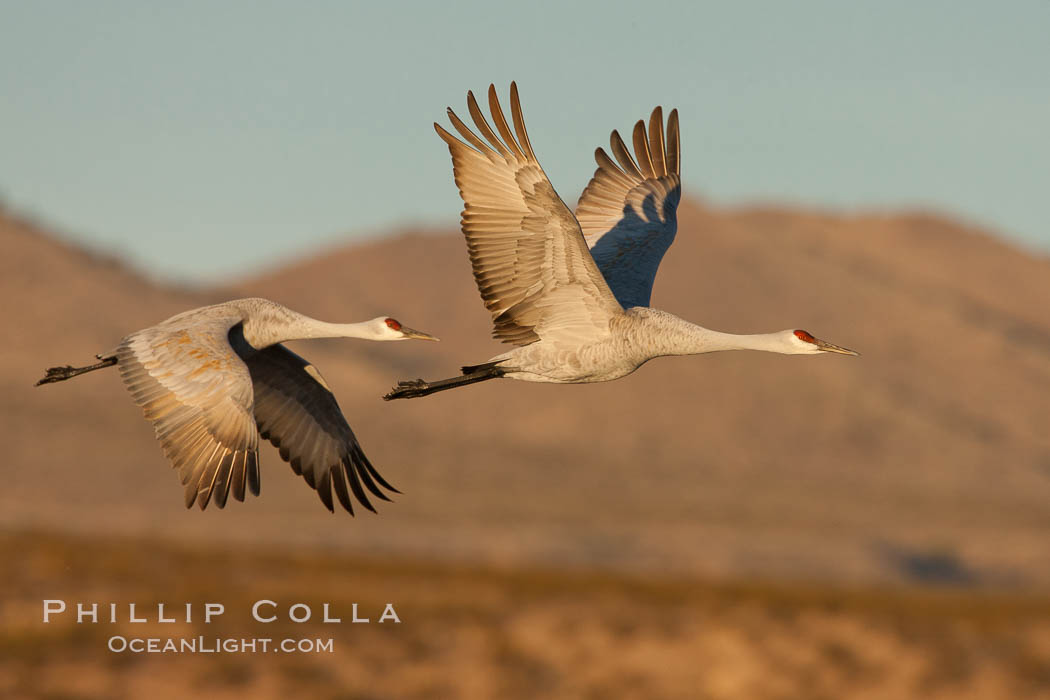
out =
<path fill-rule="evenodd" d="M 231 490 L 244 501 L 246 482 L 258 495 L 261 436 L 330 511 L 334 488 L 351 515 L 350 492 L 375 512 L 365 489 L 383 501 L 380 487 L 398 491 L 361 451 L 317 368 L 280 344 L 307 338 L 437 340 L 385 316 L 326 323 L 267 299 L 236 299 L 132 333 L 97 364 L 51 367 L 37 385 L 117 365 L 178 470 L 187 508 L 204 510 L 212 496 L 224 508 Z"/>

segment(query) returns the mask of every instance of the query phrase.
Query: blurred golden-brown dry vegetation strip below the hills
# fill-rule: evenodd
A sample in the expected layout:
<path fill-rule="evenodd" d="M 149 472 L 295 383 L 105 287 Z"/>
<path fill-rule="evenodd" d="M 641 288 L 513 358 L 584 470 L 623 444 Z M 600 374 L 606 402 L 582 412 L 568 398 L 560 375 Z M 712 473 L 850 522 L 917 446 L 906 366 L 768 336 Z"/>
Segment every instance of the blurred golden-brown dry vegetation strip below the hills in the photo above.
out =
<path fill-rule="evenodd" d="M 1050 697 L 1050 599 L 949 589 L 659 580 L 144 539 L 0 537 L 0 696 Z M 41 622 L 41 601 L 218 601 L 211 624 Z M 402 619 L 251 619 L 253 601 Z M 170 607 L 169 607 L 170 610 Z M 375 615 L 372 615 L 375 620 Z M 113 634 L 334 639 L 319 654 L 112 654 Z"/>

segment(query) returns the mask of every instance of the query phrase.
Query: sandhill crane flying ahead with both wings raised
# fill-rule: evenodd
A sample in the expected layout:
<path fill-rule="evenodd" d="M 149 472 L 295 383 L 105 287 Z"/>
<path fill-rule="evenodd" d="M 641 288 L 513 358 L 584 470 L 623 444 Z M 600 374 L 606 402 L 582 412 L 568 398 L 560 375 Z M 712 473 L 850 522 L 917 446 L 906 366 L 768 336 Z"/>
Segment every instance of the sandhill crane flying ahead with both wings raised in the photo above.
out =
<path fill-rule="evenodd" d="M 801 330 L 719 333 L 649 307 L 656 269 L 677 228 L 677 110 L 668 119 L 666 136 L 659 107 L 648 133 L 644 122 L 634 125 L 635 157 L 612 132 L 618 165 L 603 149 L 595 151 L 597 170 L 573 216 L 537 161 L 517 85 L 510 84 L 513 133 L 492 85 L 488 106 L 499 135 L 470 92 L 467 109 L 484 141 L 452 109 L 448 119 L 463 140 L 438 124 L 434 128 L 453 156 L 463 234 L 475 281 L 492 314 L 492 335 L 519 347 L 463 367 L 461 377 L 400 382 L 383 398 L 427 396 L 499 377 L 604 382 L 667 355 L 729 349 L 857 355 Z"/>

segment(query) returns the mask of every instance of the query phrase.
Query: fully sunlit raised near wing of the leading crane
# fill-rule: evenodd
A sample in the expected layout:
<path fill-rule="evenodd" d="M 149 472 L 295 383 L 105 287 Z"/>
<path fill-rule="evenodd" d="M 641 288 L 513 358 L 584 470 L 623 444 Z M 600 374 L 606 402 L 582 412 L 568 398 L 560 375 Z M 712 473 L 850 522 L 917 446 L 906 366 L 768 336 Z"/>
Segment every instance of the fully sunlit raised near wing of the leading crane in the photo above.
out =
<path fill-rule="evenodd" d="M 580 225 L 537 162 L 517 85 L 510 84 L 517 137 L 492 85 L 488 106 L 499 135 L 467 93 L 470 116 L 488 143 L 452 109 L 448 119 L 466 143 L 437 124 L 434 128 L 453 156 L 464 204 L 463 234 L 475 280 L 492 314 L 492 336 L 518 345 L 540 337 L 604 337 L 609 318 L 622 310 L 587 252 Z"/>

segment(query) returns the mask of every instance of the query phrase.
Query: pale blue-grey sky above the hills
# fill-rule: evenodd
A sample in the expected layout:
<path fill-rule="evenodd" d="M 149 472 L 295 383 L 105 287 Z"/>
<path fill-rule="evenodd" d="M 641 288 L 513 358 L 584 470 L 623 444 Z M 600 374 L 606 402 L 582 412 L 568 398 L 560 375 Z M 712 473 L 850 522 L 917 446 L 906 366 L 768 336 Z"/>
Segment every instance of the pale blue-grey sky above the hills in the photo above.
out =
<path fill-rule="evenodd" d="M 662 104 L 715 205 L 932 209 L 1050 252 L 1043 0 L 0 9 L 0 200 L 168 279 L 454 226 L 430 124 L 512 79 L 570 205 Z"/>

